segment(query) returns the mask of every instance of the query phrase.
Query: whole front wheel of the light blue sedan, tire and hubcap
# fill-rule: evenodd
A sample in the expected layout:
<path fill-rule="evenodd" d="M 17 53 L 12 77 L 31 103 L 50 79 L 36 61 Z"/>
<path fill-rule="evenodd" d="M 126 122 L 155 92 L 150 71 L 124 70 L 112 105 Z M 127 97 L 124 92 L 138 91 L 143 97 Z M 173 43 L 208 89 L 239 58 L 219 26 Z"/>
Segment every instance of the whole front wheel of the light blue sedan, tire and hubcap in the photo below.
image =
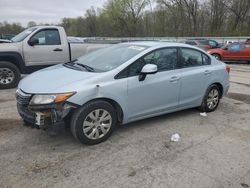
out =
<path fill-rule="evenodd" d="M 106 101 L 98 100 L 89 102 L 74 112 L 70 129 L 77 140 L 94 145 L 107 140 L 116 124 L 114 107 Z"/>

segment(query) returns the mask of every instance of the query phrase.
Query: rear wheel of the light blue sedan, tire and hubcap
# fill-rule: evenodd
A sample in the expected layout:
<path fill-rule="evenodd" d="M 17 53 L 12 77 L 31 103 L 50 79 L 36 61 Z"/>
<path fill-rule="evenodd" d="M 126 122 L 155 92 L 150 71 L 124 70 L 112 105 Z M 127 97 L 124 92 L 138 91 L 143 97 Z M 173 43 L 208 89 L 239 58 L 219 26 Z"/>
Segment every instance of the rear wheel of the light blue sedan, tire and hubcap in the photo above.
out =
<path fill-rule="evenodd" d="M 221 91 L 217 85 L 213 84 L 209 86 L 205 96 L 203 97 L 202 104 L 199 107 L 199 110 L 202 112 L 215 111 L 220 103 L 220 98 L 221 98 L 220 96 L 221 96 Z"/>

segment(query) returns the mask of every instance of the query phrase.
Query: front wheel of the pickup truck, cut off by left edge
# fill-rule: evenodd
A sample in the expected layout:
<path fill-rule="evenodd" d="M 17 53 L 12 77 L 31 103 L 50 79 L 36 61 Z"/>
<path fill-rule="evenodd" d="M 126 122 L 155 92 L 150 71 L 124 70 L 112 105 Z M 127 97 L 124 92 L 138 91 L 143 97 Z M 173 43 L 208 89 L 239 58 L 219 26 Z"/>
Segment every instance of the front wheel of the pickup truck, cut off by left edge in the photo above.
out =
<path fill-rule="evenodd" d="M 0 62 L 0 89 L 15 88 L 20 78 L 21 73 L 17 66 L 7 61 Z"/>

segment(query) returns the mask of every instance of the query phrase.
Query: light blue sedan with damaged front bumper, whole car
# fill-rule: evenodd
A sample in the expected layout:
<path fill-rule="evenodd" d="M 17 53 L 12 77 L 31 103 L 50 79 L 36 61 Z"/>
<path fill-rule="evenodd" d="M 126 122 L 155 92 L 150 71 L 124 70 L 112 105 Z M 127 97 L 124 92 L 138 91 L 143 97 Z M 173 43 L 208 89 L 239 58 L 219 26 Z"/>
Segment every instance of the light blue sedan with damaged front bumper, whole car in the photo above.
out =
<path fill-rule="evenodd" d="M 187 108 L 214 111 L 229 89 L 230 67 L 186 44 L 131 42 L 35 72 L 17 89 L 26 125 L 70 126 L 85 144 L 117 124 Z"/>

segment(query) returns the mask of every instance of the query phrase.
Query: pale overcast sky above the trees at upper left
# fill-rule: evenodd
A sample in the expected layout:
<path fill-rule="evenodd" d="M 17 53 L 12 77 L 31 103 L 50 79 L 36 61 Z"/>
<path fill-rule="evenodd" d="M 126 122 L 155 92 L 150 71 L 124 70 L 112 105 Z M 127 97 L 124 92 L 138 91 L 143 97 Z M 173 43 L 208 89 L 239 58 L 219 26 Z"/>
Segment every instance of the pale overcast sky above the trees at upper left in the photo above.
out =
<path fill-rule="evenodd" d="M 59 23 L 64 17 L 83 16 L 91 6 L 102 7 L 106 0 L 0 0 L 0 22 Z"/>

